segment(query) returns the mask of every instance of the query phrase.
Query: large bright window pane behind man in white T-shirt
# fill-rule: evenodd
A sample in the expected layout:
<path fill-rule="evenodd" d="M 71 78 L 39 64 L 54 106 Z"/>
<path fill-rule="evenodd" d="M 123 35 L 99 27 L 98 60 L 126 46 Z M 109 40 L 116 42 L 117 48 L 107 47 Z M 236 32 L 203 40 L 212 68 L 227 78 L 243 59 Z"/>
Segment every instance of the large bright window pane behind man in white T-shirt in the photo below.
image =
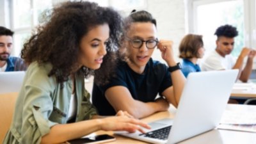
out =
<path fill-rule="evenodd" d="M 244 10 L 243 0 L 203 4 L 197 7 L 197 33 L 203 35 L 206 52 L 216 48 L 216 29 L 224 24 L 231 24 L 239 31 L 235 38 L 233 56 L 238 56 L 244 47 Z"/>

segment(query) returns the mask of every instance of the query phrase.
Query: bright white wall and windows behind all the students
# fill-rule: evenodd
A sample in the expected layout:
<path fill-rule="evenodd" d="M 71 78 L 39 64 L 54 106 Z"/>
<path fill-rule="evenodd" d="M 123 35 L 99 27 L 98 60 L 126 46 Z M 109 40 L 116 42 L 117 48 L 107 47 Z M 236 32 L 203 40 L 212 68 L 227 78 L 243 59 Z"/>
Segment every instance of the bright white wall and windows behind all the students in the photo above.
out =
<path fill-rule="evenodd" d="M 33 29 L 43 24 L 52 6 L 68 0 L 0 0 L 0 26 L 15 32 L 13 56 L 20 55 L 24 40 Z M 70 0 L 76 1 L 76 0 Z M 101 6 L 112 6 L 122 15 L 132 10 L 147 10 L 157 19 L 159 39 L 173 40 L 175 58 L 179 59 L 179 43 L 188 33 L 203 35 L 205 54 L 215 49 L 218 26 L 236 26 L 239 36 L 232 55 L 238 56 L 246 46 L 256 49 L 256 2 L 255 0 L 90 0 Z M 159 51 L 155 60 L 164 62 Z M 200 61 L 199 61 L 200 62 Z M 256 65 L 253 65 L 256 68 Z"/>

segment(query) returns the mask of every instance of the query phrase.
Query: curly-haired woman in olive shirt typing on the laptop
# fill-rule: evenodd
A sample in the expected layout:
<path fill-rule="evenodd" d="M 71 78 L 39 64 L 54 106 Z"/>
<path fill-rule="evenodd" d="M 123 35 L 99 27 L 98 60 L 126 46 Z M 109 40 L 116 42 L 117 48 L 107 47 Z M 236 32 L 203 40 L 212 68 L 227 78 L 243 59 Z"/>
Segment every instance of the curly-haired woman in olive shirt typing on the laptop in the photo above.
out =
<path fill-rule="evenodd" d="M 22 49 L 29 67 L 3 143 L 63 143 L 100 129 L 148 128 L 123 111 L 100 118 L 84 89 L 84 77 L 101 65 L 108 69 L 97 74 L 109 76 L 121 24 L 117 12 L 95 3 L 68 2 L 54 8 L 51 20 Z"/>

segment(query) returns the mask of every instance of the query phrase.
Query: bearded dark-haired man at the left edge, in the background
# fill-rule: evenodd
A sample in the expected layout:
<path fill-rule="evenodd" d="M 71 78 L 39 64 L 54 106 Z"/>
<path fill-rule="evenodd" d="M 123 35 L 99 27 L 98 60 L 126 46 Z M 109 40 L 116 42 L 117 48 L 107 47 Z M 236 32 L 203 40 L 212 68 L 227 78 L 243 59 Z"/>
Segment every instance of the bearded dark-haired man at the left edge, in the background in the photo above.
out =
<path fill-rule="evenodd" d="M 0 26 L 0 72 L 26 70 L 21 58 L 10 56 L 13 46 L 13 31 Z"/>

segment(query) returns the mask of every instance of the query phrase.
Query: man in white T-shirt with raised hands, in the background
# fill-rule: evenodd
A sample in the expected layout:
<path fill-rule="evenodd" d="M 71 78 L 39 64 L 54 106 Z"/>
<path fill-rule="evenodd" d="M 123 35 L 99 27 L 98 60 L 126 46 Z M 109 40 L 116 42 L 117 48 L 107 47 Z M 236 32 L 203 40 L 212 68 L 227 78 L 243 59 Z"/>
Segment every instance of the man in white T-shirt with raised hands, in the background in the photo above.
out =
<path fill-rule="evenodd" d="M 239 69 L 238 79 L 247 82 L 252 72 L 256 51 L 244 47 L 235 60 L 231 52 L 234 49 L 234 38 L 238 35 L 236 28 L 226 24 L 216 29 L 214 35 L 217 36 L 216 49 L 202 61 L 202 71 Z M 246 57 L 246 65 L 243 67 L 243 61 Z"/>

